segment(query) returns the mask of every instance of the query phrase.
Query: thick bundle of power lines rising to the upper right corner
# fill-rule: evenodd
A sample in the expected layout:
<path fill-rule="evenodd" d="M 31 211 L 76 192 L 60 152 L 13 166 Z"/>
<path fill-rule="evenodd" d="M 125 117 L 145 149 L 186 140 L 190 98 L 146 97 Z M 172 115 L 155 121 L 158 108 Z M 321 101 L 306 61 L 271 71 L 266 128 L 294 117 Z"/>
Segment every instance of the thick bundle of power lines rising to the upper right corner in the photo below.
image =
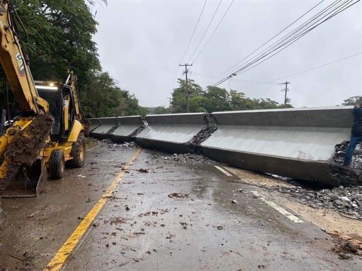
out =
<path fill-rule="evenodd" d="M 248 71 L 251 68 L 263 63 L 270 57 L 274 56 L 275 54 L 279 53 L 280 51 L 284 50 L 288 46 L 292 45 L 293 43 L 295 43 L 296 41 L 301 39 L 304 35 L 309 33 L 311 30 L 313 30 L 320 24 L 333 18 L 337 14 L 341 13 L 342 11 L 351 7 L 352 5 L 356 4 L 359 1 L 360 0 L 357 0 L 357 1 L 346 0 L 346 1 L 342 2 L 341 4 L 339 3 L 339 2 L 341 2 L 341 0 L 335 1 L 334 3 L 332 3 L 325 9 L 323 9 L 321 12 L 314 15 L 312 18 L 308 19 L 305 23 L 303 23 L 301 26 L 299 26 L 296 30 L 290 32 L 289 34 L 284 36 L 282 39 L 275 42 L 273 45 L 270 45 L 268 48 L 264 49 L 264 51 L 262 51 L 258 55 L 254 56 L 253 58 L 248 60 L 248 62 L 245 62 L 243 64 L 243 66 L 241 66 L 240 68 L 238 68 L 238 70 L 233 72 L 233 75 L 234 74 L 239 75 L 239 74 L 241 74 L 245 71 Z M 338 4 L 337 7 L 334 6 L 336 4 Z M 332 10 L 330 10 L 330 9 L 332 9 Z M 326 14 L 323 15 L 323 13 L 326 13 Z M 321 17 L 321 18 L 318 18 L 318 17 Z M 315 22 L 313 22 L 313 21 L 315 21 Z M 268 55 L 270 55 L 270 56 L 267 57 Z M 267 58 L 265 58 L 265 57 L 267 57 Z M 265 58 L 265 59 L 262 60 L 263 58 Z M 226 80 L 228 80 L 230 77 L 231 76 L 225 77 L 224 79 L 221 79 L 218 82 L 214 83 L 212 86 L 217 86 L 217 85 L 225 82 Z"/>

